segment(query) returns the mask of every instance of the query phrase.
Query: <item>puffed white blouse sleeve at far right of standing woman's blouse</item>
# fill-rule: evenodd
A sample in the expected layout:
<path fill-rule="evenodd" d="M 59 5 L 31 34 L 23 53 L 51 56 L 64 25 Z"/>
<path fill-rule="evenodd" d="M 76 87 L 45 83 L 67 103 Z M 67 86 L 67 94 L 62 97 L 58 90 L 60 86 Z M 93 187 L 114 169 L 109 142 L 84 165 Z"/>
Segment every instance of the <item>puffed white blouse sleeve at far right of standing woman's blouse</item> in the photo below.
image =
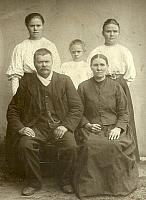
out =
<path fill-rule="evenodd" d="M 126 72 L 124 74 L 124 79 L 127 81 L 128 84 L 130 84 L 132 81 L 134 81 L 136 77 L 136 70 L 134 66 L 133 56 L 128 49 L 127 52 L 125 52 L 124 56 L 126 60 Z"/>

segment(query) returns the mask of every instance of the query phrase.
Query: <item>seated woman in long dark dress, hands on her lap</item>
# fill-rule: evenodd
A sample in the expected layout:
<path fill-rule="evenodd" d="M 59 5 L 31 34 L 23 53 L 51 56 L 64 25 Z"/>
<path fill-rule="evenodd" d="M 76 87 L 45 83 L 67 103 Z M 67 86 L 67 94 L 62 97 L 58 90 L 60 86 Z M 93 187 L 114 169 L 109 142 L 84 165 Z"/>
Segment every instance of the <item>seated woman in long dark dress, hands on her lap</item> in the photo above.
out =
<path fill-rule="evenodd" d="M 108 77 L 108 60 L 91 58 L 93 77 L 79 85 L 84 116 L 77 136 L 83 137 L 74 175 L 79 198 L 128 195 L 137 188 L 135 142 L 129 127 L 127 98 L 121 85 Z"/>

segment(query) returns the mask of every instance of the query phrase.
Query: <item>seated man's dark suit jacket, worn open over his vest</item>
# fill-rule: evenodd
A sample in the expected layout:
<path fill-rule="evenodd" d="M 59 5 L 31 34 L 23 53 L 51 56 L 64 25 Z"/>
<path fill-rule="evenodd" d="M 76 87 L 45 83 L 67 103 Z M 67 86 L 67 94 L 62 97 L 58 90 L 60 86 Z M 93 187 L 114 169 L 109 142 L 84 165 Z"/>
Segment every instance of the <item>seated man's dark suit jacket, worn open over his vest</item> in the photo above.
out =
<path fill-rule="evenodd" d="M 19 138 L 18 131 L 27 126 L 35 125 L 39 114 L 40 96 L 38 93 L 38 80 L 36 74 L 25 74 L 20 81 L 17 93 L 12 98 L 7 111 L 7 158 L 11 155 Z M 52 100 L 56 115 L 68 130 L 74 132 L 83 113 L 83 106 L 71 79 L 63 74 L 53 72 Z M 9 158 L 8 158 L 9 159 Z"/>

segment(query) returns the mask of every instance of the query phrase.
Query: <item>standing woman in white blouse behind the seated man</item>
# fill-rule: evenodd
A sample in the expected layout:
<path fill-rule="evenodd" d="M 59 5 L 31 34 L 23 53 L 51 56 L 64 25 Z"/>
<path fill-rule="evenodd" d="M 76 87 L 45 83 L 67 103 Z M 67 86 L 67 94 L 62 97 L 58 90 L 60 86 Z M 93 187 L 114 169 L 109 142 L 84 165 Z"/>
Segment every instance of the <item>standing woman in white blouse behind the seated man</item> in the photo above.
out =
<path fill-rule="evenodd" d="M 42 36 L 44 29 L 44 18 L 39 13 L 31 13 L 25 18 L 25 25 L 29 32 L 29 38 L 22 41 L 13 50 L 11 64 L 6 74 L 12 82 L 12 92 L 15 95 L 19 87 L 19 80 L 24 73 L 35 73 L 33 63 L 34 52 L 40 48 L 47 48 L 53 56 L 53 70 L 60 71 L 60 57 L 54 43 Z"/>

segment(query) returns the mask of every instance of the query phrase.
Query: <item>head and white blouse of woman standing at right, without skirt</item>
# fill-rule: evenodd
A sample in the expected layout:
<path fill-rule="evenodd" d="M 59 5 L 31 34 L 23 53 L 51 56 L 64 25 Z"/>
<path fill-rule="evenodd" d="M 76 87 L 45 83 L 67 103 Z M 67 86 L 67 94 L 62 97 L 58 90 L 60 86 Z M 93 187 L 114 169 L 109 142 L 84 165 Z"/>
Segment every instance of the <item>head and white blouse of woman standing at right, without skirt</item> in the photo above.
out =
<path fill-rule="evenodd" d="M 113 77 L 123 75 L 127 84 L 135 79 L 136 71 L 131 52 L 124 46 L 118 44 L 120 25 L 115 19 L 108 19 L 104 22 L 102 34 L 105 39 L 104 45 L 95 48 L 88 57 L 88 62 L 93 55 L 102 53 L 108 58 L 108 73 Z"/>

